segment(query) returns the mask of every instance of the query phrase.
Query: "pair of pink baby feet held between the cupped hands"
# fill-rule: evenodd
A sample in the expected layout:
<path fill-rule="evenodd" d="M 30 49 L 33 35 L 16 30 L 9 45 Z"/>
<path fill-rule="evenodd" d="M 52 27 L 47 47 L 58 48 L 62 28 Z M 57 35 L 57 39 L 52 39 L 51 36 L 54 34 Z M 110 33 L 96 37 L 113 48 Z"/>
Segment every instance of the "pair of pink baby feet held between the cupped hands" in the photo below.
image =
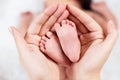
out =
<path fill-rule="evenodd" d="M 40 50 L 58 64 L 77 62 L 80 58 L 81 44 L 75 24 L 63 20 L 61 24 L 56 23 L 54 28 L 56 35 L 47 32 L 40 41 Z"/>

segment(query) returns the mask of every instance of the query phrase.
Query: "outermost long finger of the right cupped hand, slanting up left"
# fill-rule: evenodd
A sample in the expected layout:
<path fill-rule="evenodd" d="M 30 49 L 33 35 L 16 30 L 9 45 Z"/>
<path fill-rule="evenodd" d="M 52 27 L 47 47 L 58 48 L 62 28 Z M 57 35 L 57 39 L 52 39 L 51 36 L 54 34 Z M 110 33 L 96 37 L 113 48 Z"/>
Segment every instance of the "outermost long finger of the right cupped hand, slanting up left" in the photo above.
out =
<path fill-rule="evenodd" d="M 89 31 L 91 31 L 91 32 L 102 31 L 100 25 L 97 24 L 97 22 L 95 20 L 93 20 L 90 16 L 88 16 L 82 10 L 80 10 L 72 5 L 68 5 L 67 8 L 68 8 L 69 12 L 72 15 L 74 15 L 79 21 L 81 21 Z"/>

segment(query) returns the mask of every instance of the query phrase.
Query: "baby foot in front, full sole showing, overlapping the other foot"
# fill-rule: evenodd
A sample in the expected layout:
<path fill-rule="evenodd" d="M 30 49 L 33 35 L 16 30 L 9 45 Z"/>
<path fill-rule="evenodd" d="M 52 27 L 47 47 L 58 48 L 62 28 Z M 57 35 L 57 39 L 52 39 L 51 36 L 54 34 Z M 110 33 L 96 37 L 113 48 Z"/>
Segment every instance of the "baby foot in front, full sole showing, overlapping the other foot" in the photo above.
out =
<path fill-rule="evenodd" d="M 55 24 L 55 31 L 66 56 L 72 62 L 77 62 L 80 58 L 80 41 L 76 26 L 72 21 L 63 20 L 60 24 Z"/>

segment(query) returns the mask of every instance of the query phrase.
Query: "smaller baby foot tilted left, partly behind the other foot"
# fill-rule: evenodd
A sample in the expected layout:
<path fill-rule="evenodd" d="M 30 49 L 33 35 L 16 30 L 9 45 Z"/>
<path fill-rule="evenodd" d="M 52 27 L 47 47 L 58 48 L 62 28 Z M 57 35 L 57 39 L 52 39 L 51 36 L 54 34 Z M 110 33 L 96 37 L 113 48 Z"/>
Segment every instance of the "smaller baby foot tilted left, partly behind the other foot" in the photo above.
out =
<path fill-rule="evenodd" d="M 63 54 L 59 40 L 52 32 L 47 32 L 46 36 L 42 36 L 40 50 L 58 64 L 68 64 L 68 60 Z"/>

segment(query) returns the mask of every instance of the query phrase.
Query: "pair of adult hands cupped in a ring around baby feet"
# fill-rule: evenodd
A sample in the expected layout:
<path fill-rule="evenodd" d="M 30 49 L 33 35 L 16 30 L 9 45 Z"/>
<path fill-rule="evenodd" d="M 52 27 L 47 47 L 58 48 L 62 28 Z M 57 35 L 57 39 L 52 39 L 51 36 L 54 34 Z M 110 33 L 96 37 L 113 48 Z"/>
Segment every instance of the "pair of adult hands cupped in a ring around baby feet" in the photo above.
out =
<path fill-rule="evenodd" d="M 96 21 L 83 11 L 70 5 L 68 11 L 71 13 L 72 19 L 80 23 L 78 24 L 78 30 L 82 43 L 81 59 L 78 63 L 67 68 L 68 77 L 72 80 L 79 80 L 86 74 L 99 74 L 117 38 L 114 23 L 110 21 L 106 27 L 101 28 Z M 14 27 L 10 29 L 20 53 L 20 61 L 31 79 L 59 79 L 58 65 L 39 50 L 41 39 L 39 35 L 49 31 L 54 23 L 66 19 L 69 15 L 68 11 L 62 5 L 48 8 L 32 22 L 24 36 L 21 31 Z"/>

